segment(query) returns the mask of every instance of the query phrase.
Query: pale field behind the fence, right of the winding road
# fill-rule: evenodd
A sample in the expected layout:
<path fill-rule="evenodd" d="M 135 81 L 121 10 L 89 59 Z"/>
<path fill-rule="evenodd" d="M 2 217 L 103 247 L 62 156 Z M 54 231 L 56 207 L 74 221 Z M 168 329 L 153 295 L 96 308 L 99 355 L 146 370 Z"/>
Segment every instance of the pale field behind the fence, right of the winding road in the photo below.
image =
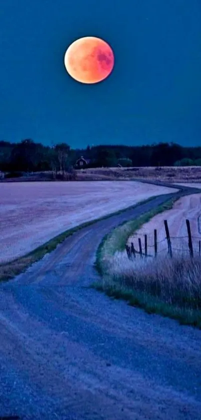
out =
<path fill-rule="evenodd" d="M 194 186 L 192 184 L 192 186 Z M 168 220 L 172 247 L 189 253 L 188 231 L 186 219 L 190 220 L 191 233 L 193 238 L 193 247 L 195 252 L 199 251 L 199 240 L 201 240 L 201 194 L 192 194 L 180 198 L 171 210 L 167 210 L 153 217 L 148 223 L 131 235 L 128 245 L 133 242 L 134 248 L 139 251 L 138 238 L 141 238 L 144 252 L 144 235 L 147 234 L 148 254 L 154 255 L 154 229 L 157 229 L 158 252 L 163 250 L 167 252 L 168 244 L 166 240 L 166 231 L 164 220 Z"/>

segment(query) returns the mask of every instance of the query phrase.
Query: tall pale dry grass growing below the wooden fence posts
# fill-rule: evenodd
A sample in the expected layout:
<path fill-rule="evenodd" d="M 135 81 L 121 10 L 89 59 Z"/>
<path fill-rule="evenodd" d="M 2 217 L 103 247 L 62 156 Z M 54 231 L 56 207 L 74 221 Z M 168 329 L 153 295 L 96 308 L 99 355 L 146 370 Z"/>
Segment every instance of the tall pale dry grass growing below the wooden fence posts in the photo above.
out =
<path fill-rule="evenodd" d="M 166 304 L 201 309 L 201 258 L 166 253 L 128 260 L 125 251 L 110 258 L 110 280 L 160 298 Z"/>

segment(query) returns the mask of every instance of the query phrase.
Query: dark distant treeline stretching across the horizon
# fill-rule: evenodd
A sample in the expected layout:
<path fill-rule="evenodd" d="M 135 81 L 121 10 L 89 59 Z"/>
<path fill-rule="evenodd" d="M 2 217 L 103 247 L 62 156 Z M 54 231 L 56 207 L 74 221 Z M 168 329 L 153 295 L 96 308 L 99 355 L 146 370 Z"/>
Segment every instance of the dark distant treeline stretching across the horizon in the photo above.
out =
<path fill-rule="evenodd" d="M 201 147 L 182 147 L 175 143 L 145 146 L 99 145 L 71 149 L 67 143 L 44 146 L 31 139 L 19 143 L 0 141 L 0 171 L 70 171 L 83 156 L 85 167 L 121 166 L 201 166 Z"/>

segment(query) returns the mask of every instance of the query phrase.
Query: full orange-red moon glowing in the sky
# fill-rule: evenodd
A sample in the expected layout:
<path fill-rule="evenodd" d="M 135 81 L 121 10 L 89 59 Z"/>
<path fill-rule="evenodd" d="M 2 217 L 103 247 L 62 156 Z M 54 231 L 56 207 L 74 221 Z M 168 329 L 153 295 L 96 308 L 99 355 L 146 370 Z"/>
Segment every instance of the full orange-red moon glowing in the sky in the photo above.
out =
<path fill-rule="evenodd" d="M 73 79 L 93 84 L 110 75 L 114 67 L 114 53 L 100 38 L 84 37 L 68 47 L 64 64 Z"/>

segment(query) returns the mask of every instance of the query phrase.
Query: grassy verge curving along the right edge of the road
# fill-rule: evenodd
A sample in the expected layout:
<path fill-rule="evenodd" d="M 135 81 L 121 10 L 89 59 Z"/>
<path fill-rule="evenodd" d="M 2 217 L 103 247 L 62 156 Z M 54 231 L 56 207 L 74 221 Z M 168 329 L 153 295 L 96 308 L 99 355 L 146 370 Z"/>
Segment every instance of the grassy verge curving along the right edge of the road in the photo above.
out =
<path fill-rule="evenodd" d="M 178 320 L 180 324 L 192 325 L 201 329 L 201 288 L 200 282 L 198 283 L 198 279 L 201 276 L 198 276 L 196 270 L 195 276 L 192 276 L 194 263 L 191 266 L 191 261 L 186 261 L 186 264 L 185 260 L 181 261 L 181 259 L 178 260 L 177 258 L 174 261 L 171 259 L 168 261 L 166 256 L 167 267 L 165 266 L 165 260 L 158 264 L 158 266 L 161 264 L 162 268 L 164 264 L 165 271 L 166 269 L 170 270 L 169 272 L 166 271 L 165 274 L 162 269 L 161 271 L 158 269 L 158 266 L 152 267 L 152 264 L 151 266 L 147 264 L 145 268 L 143 266 L 137 267 L 133 265 L 133 272 L 132 270 L 129 272 L 129 268 L 131 267 L 128 267 L 126 274 L 124 268 L 129 265 L 127 259 L 120 261 L 121 267 L 119 273 L 115 275 L 111 270 L 112 264 L 114 264 L 113 258 L 115 253 L 118 254 L 118 251 L 120 253 L 125 250 L 125 244 L 129 236 L 156 214 L 170 210 L 177 199 L 175 197 L 154 210 L 143 214 L 138 219 L 119 225 L 103 238 L 96 253 L 96 268 L 102 278 L 99 282 L 93 283 L 92 287 L 105 292 L 108 296 L 114 297 L 115 299 L 124 299 L 129 305 L 138 306 L 150 314 L 168 316 Z M 197 271 L 200 273 L 201 264 L 199 261 L 195 261 L 195 265 L 197 264 Z M 129 263 L 132 264 L 131 261 Z M 143 262 L 141 262 L 142 264 Z M 155 262 L 155 265 L 157 265 L 157 262 Z M 186 275 L 183 284 L 179 281 L 179 285 L 176 284 L 177 279 L 179 278 L 181 280 L 182 277 L 180 277 L 179 272 L 175 272 L 175 267 L 178 267 L 178 265 L 180 265 L 180 269 L 181 266 L 182 268 L 184 267 L 183 272 Z M 157 279 L 154 268 L 156 269 L 156 273 L 160 271 Z M 170 274 L 172 274 L 171 280 Z M 175 290 L 175 286 L 177 286 L 178 290 L 181 287 L 182 292 L 187 292 L 185 299 L 183 295 L 184 303 L 180 298 L 180 290 L 178 295 L 178 290 Z M 194 299 L 195 289 L 197 299 Z M 189 298 L 192 290 L 192 298 Z M 159 291 L 162 291 L 161 296 L 159 296 Z M 170 296 L 167 299 L 168 293 Z"/>

